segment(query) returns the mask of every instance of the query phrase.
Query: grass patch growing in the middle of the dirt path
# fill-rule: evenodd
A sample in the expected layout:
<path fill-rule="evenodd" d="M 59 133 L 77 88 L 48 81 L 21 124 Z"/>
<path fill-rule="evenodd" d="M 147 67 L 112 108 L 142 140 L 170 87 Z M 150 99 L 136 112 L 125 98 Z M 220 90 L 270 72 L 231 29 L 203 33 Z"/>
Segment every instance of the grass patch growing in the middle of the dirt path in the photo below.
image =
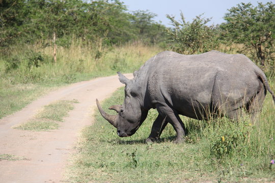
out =
<path fill-rule="evenodd" d="M 58 122 L 63 122 L 64 117 L 68 116 L 68 112 L 73 110 L 73 103 L 77 103 L 76 100 L 59 100 L 44 106 L 36 117 L 30 119 L 26 123 L 15 126 L 15 129 L 20 130 L 32 130 L 32 131 L 46 131 L 58 129 Z"/>

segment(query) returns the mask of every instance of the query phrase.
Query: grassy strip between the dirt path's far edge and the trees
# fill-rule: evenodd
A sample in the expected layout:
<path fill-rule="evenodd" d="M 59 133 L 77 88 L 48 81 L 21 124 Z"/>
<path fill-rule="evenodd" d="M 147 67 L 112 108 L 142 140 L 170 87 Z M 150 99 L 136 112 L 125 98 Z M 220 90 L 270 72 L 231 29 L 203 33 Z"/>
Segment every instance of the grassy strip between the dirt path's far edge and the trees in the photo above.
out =
<path fill-rule="evenodd" d="M 0 118 L 55 86 L 115 75 L 117 71 L 133 72 L 160 51 L 141 42 L 104 48 L 74 40 L 68 47 L 58 46 L 54 63 L 53 47 L 47 42 L 11 47 L 8 53 L 0 54 Z"/>

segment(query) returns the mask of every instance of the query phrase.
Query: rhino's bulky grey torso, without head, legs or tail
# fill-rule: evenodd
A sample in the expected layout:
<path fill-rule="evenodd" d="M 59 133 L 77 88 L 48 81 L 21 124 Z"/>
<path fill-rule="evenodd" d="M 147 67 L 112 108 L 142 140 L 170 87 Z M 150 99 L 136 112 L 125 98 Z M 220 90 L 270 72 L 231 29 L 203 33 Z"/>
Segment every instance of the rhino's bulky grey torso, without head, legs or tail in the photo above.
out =
<path fill-rule="evenodd" d="M 255 95 L 259 83 L 257 66 L 246 56 L 210 51 L 182 55 L 164 51 L 150 58 L 139 70 L 144 95 L 154 108 L 169 104 L 179 113 L 197 118 L 194 108 L 209 107 L 213 98 Z M 257 89 L 256 89 L 257 92 Z"/>

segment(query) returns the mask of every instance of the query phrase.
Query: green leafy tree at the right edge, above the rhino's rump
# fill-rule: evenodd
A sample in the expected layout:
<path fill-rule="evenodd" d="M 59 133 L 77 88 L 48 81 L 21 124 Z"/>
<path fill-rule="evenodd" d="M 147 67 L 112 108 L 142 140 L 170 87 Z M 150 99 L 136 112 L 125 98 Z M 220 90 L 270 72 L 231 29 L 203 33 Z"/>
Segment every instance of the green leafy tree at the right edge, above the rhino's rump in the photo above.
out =
<path fill-rule="evenodd" d="M 221 25 L 227 40 L 244 44 L 243 53 L 254 53 L 252 58 L 261 66 L 274 65 L 275 7 L 269 2 L 238 4 L 226 13 Z"/>

